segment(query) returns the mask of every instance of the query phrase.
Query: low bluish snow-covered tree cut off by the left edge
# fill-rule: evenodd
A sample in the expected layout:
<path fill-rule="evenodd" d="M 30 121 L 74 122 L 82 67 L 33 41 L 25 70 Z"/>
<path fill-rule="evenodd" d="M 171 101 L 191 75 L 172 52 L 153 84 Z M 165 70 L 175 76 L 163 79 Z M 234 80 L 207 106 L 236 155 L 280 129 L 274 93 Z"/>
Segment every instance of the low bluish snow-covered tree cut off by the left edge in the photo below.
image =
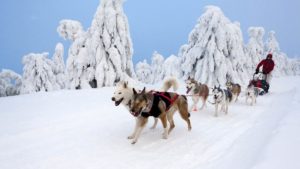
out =
<path fill-rule="evenodd" d="M 0 97 L 20 94 L 21 85 L 21 75 L 8 69 L 0 72 Z"/>

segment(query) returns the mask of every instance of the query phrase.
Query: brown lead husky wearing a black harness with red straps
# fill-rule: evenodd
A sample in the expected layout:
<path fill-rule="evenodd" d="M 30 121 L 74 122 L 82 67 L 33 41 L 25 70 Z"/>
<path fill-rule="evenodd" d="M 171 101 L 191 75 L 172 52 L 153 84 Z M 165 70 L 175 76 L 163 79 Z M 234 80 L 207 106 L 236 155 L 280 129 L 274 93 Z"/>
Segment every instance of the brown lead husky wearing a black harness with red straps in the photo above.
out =
<path fill-rule="evenodd" d="M 138 141 L 149 116 L 161 120 L 164 128 L 164 139 L 168 138 L 168 135 L 175 127 L 173 115 L 177 110 L 181 118 L 186 121 L 188 130 L 192 129 L 187 98 L 185 96 L 171 92 L 146 92 L 145 88 L 140 93 L 136 92 L 133 88 L 133 93 L 134 99 L 131 106 L 131 113 L 137 117 L 137 123 L 132 135 L 128 137 L 129 139 L 133 139 L 132 144 Z M 169 130 L 167 129 L 167 121 L 170 124 Z"/>

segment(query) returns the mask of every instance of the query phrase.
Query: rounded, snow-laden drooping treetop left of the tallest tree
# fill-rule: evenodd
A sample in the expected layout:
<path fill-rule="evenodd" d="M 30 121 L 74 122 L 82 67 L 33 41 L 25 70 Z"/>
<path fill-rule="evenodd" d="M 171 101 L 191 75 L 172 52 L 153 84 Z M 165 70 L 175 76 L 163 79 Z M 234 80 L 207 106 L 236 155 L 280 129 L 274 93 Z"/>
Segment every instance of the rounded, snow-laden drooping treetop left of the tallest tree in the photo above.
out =
<path fill-rule="evenodd" d="M 65 19 L 59 22 L 57 32 L 62 38 L 74 41 L 80 37 L 84 31 L 79 21 Z"/>

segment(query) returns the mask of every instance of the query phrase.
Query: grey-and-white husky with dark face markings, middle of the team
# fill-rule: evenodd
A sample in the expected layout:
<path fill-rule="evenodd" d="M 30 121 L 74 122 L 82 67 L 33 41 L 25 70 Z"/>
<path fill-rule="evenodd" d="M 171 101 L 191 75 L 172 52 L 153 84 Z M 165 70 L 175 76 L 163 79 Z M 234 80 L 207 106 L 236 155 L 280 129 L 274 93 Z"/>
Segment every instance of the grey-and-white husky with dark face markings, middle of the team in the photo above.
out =
<path fill-rule="evenodd" d="M 232 101 L 232 93 L 229 90 L 221 89 L 220 86 L 212 89 L 213 100 L 215 105 L 215 116 L 218 116 L 219 105 L 221 110 L 228 114 L 228 105 Z"/>

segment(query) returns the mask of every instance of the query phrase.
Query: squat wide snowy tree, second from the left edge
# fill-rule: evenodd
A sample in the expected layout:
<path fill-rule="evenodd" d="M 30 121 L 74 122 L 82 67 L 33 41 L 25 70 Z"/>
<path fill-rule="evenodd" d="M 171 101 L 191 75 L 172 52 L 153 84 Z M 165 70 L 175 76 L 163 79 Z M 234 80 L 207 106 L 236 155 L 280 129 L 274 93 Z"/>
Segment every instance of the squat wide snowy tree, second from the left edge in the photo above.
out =
<path fill-rule="evenodd" d="M 59 89 L 53 73 L 53 62 L 48 53 L 30 53 L 23 57 L 21 93 L 52 91 Z"/>

